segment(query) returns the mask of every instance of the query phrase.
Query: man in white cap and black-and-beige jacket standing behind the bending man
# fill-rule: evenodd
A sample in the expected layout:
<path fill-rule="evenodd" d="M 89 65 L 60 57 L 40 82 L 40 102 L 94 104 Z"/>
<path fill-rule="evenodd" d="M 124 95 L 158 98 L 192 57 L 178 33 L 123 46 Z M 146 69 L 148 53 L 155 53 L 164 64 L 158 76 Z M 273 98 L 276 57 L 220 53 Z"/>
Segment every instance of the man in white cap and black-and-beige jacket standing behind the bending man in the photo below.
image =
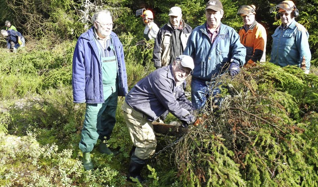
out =
<path fill-rule="evenodd" d="M 153 61 L 156 69 L 171 64 L 182 55 L 192 28 L 182 19 L 182 10 L 173 6 L 169 10 L 169 21 L 157 34 L 154 46 Z"/>

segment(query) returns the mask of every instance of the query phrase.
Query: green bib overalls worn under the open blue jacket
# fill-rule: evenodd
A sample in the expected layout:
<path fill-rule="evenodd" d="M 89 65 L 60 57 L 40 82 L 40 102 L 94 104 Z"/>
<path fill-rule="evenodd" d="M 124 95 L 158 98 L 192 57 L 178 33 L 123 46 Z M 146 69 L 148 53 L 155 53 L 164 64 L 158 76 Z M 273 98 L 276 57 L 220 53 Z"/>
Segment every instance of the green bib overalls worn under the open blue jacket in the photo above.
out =
<path fill-rule="evenodd" d="M 86 104 L 84 125 L 79 142 L 79 149 L 83 153 L 91 152 L 97 139 L 102 140 L 99 144 L 101 153 L 111 154 L 109 148 L 103 142 L 110 138 L 116 123 L 116 108 L 118 100 L 117 72 L 115 48 L 111 39 L 107 40 L 106 46 L 95 40 L 100 57 L 100 71 L 103 82 L 104 102 L 98 104 Z M 98 79 L 98 77 L 95 77 Z"/>

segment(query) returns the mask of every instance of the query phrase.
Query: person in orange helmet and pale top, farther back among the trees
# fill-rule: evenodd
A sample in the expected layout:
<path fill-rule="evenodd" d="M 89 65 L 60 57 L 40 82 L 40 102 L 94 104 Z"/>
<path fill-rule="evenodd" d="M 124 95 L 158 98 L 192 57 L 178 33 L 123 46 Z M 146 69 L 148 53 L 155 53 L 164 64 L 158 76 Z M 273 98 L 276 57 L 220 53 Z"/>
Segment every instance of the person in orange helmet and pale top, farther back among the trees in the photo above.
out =
<path fill-rule="evenodd" d="M 159 27 L 158 25 L 154 22 L 154 14 L 151 10 L 145 10 L 143 12 L 143 21 L 146 25 L 145 30 L 144 30 L 144 38 L 146 38 L 146 40 L 152 40 L 155 39 L 158 31 L 159 31 Z"/>

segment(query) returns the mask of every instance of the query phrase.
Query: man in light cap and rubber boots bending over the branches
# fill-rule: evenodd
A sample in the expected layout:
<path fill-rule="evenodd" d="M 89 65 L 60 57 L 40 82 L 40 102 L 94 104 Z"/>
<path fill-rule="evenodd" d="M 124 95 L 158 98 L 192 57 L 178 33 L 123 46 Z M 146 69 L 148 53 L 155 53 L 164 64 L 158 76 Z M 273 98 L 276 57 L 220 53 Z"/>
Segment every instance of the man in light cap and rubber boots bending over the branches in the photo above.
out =
<path fill-rule="evenodd" d="M 183 126 L 195 121 L 194 107 L 180 87 L 193 68 L 192 58 L 180 55 L 169 66 L 159 68 L 139 81 L 126 95 L 122 109 L 134 144 L 128 180 L 132 177 L 142 182 L 141 170 L 155 153 L 157 140 L 152 121 L 165 111 L 181 120 Z"/>

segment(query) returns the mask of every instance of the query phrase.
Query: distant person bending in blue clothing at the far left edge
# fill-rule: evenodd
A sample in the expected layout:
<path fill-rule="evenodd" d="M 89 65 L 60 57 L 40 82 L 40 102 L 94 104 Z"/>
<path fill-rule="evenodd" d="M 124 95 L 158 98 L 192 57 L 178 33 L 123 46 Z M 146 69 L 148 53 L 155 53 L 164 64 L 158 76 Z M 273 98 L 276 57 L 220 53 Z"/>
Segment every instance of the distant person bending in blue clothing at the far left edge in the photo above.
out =
<path fill-rule="evenodd" d="M 17 32 L 13 29 L 4 30 L 2 29 L 1 35 L 6 37 L 7 40 L 7 49 L 15 52 L 17 48 L 25 46 L 25 39 L 20 32 Z"/>

